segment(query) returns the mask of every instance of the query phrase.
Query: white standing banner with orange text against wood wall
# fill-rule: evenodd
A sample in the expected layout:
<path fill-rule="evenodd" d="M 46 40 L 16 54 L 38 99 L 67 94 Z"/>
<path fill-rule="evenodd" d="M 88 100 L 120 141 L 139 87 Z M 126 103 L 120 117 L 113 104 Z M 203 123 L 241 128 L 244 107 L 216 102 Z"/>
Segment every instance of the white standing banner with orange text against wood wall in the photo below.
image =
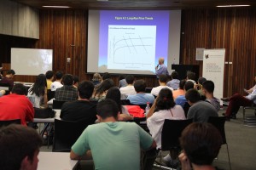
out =
<path fill-rule="evenodd" d="M 223 97 L 225 49 L 205 49 L 203 56 L 202 77 L 214 82 L 214 96 L 220 99 Z"/>

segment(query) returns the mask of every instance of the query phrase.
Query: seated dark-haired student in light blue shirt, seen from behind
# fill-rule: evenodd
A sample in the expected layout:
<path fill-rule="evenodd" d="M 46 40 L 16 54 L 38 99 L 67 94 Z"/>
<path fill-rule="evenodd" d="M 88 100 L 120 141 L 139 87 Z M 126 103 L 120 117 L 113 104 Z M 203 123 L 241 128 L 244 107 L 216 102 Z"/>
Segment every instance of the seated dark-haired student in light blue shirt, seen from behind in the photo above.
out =
<path fill-rule="evenodd" d="M 146 82 L 143 79 L 135 81 L 134 88 L 137 94 L 130 94 L 127 97 L 132 105 L 147 105 L 147 102 L 154 103 L 154 96 L 145 94 Z"/>

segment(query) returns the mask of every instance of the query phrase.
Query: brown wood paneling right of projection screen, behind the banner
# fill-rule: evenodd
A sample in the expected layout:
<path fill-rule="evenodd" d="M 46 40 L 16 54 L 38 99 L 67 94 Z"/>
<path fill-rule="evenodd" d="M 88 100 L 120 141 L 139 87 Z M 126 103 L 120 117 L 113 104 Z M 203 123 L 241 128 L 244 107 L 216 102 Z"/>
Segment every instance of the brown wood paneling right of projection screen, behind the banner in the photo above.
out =
<path fill-rule="evenodd" d="M 256 74 L 256 10 L 221 8 L 183 10 L 181 64 L 201 65 L 195 48 L 225 48 L 224 96 L 253 87 Z M 200 71 L 202 72 L 202 71 Z"/>

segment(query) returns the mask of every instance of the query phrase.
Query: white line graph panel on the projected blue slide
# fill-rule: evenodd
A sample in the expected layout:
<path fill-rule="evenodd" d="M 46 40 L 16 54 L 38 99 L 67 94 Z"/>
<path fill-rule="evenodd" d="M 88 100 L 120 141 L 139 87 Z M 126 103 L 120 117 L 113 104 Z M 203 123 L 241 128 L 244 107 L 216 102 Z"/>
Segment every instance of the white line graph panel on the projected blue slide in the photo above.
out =
<path fill-rule="evenodd" d="M 154 68 L 156 26 L 108 26 L 108 69 Z"/>

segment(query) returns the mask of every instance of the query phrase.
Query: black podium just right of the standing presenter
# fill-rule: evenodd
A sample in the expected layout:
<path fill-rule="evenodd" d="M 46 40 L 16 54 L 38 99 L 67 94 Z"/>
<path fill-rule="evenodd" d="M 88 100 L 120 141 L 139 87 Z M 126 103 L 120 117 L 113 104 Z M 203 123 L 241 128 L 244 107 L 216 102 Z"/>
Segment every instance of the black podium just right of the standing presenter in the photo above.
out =
<path fill-rule="evenodd" d="M 172 65 L 172 70 L 177 71 L 179 80 L 185 79 L 188 71 L 195 72 L 195 81 L 199 78 L 199 65 Z"/>

